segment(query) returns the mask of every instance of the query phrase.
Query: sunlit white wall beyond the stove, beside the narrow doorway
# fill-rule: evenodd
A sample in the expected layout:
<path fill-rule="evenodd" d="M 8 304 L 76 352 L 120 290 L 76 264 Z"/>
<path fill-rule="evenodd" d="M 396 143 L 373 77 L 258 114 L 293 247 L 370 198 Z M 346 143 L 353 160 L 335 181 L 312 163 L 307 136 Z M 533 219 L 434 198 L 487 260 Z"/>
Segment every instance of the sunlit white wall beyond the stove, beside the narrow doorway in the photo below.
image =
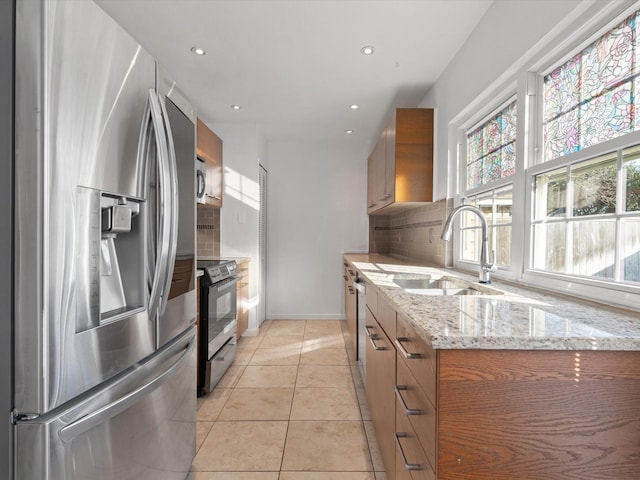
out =
<path fill-rule="evenodd" d="M 249 257 L 249 326 L 257 325 L 258 301 L 258 164 L 264 163 L 266 144 L 255 125 L 212 124 L 222 139 L 224 195 L 220 210 L 220 255 Z"/>

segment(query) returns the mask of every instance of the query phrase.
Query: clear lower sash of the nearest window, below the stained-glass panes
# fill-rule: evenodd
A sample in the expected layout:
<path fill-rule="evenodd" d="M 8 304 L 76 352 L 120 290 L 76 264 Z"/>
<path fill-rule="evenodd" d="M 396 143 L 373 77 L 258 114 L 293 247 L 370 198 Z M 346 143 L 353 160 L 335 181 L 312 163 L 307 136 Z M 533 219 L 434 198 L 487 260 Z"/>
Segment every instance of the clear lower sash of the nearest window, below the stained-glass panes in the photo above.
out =
<path fill-rule="evenodd" d="M 533 268 L 640 282 L 640 147 L 534 176 Z"/>

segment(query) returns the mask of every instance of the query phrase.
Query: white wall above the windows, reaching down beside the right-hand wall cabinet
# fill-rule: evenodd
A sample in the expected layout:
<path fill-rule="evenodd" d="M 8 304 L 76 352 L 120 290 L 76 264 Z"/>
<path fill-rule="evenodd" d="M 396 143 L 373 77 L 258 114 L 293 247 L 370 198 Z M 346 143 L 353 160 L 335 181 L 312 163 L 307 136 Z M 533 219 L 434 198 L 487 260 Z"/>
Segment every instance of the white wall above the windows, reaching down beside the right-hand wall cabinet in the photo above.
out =
<path fill-rule="evenodd" d="M 496 0 L 469 39 L 427 92 L 421 107 L 437 107 L 434 199 L 455 193 L 455 138 L 451 121 L 487 89 L 499 95 L 505 77 L 520 68 L 539 42 L 548 40 L 554 28 L 593 1 Z M 577 8 L 580 7 L 580 8 Z M 506 99 L 505 99 L 506 100 Z M 477 105 L 481 108 L 482 105 Z"/>

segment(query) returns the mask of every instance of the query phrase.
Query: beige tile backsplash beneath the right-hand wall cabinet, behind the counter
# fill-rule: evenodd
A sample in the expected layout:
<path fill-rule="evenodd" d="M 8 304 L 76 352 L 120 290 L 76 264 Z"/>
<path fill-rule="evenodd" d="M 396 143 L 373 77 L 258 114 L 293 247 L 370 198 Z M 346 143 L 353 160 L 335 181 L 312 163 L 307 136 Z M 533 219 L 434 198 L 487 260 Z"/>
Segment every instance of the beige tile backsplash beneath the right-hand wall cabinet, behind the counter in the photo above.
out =
<path fill-rule="evenodd" d="M 369 217 L 369 252 L 428 262 L 453 263 L 451 242 L 440 240 L 453 199 L 421 205 L 389 216 Z"/>

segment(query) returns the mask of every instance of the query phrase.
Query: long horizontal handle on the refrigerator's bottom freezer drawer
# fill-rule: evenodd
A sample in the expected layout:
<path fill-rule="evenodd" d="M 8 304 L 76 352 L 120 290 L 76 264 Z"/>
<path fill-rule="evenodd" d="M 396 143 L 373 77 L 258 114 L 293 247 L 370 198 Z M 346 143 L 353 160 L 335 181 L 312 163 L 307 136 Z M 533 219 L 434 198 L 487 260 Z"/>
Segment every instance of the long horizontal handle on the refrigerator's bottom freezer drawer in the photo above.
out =
<path fill-rule="evenodd" d="M 180 355 L 180 357 L 174 362 L 171 367 L 165 370 L 162 374 L 151 380 L 146 385 L 133 390 L 128 393 L 124 397 L 119 398 L 118 400 L 105 405 L 104 407 L 96 410 L 95 412 L 90 413 L 82 417 L 81 419 L 70 423 L 66 427 L 63 427 L 60 430 L 59 436 L 63 442 L 70 442 L 78 435 L 81 435 L 92 428 L 104 423 L 106 420 L 115 417 L 119 413 L 127 410 L 128 408 L 135 405 L 138 401 L 140 401 L 143 397 L 147 396 L 153 390 L 162 386 L 177 370 L 180 368 L 180 364 L 182 360 L 189 355 L 192 348 L 195 345 L 195 336 L 191 337 L 186 346 L 184 346 L 184 351 Z"/>

